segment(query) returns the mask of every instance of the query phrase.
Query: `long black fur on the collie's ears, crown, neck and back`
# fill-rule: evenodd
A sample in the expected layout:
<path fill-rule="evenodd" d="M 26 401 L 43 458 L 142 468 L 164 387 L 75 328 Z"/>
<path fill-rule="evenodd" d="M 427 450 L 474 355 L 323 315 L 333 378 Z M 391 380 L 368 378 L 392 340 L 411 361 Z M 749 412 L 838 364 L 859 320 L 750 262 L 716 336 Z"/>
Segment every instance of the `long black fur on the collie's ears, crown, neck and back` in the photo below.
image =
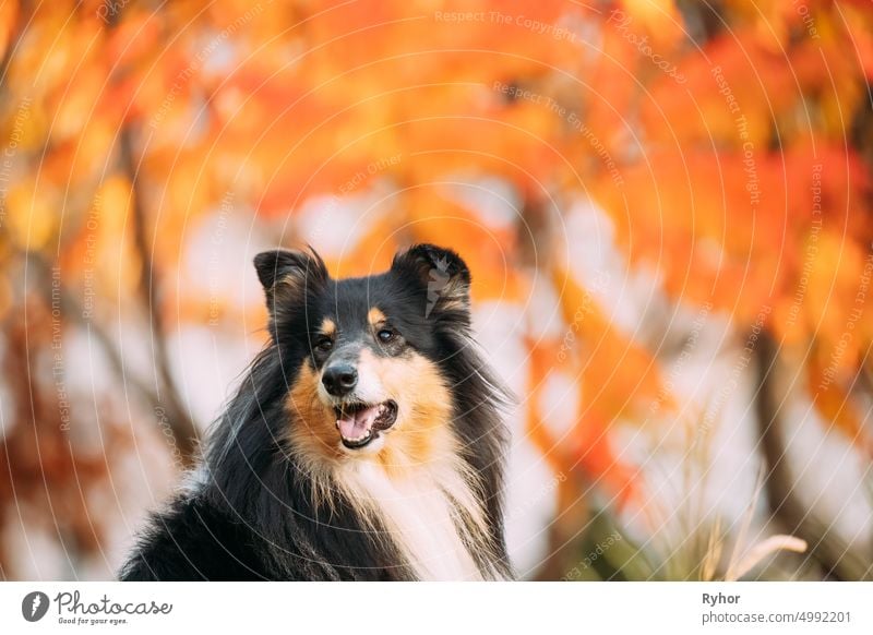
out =
<path fill-rule="evenodd" d="M 489 560 L 474 553 L 485 577 L 510 577 L 503 536 L 506 397 L 469 339 L 470 274 L 452 251 L 418 245 L 392 268 L 333 280 L 314 253 L 277 250 L 255 259 L 270 308 L 271 343 L 251 364 L 205 443 L 202 482 L 152 516 L 121 568 L 125 580 L 285 579 L 402 580 L 412 568 L 384 532 L 364 529 L 336 495 L 332 513 L 312 508 L 311 482 L 288 452 L 284 407 L 289 385 L 313 347 L 325 315 L 361 323 L 374 303 L 397 322 L 405 345 L 434 361 L 454 399 L 453 426 L 464 460 L 486 492 Z M 430 286 L 430 289 L 429 289 Z M 354 333 L 349 336 L 354 336 Z"/>

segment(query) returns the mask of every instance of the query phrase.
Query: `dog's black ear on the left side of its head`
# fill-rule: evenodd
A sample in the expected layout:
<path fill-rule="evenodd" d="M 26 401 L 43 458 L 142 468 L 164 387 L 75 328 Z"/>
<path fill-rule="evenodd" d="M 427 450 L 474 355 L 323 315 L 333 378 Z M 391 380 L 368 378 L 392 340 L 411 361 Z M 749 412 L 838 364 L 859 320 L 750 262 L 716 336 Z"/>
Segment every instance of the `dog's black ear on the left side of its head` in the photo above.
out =
<path fill-rule="evenodd" d="M 303 302 L 308 291 L 320 288 L 328 278 L 324 261 L 311 249 L 261 252 L 254 256 L 254 268 L 273 316 L 277 309 Z"/>

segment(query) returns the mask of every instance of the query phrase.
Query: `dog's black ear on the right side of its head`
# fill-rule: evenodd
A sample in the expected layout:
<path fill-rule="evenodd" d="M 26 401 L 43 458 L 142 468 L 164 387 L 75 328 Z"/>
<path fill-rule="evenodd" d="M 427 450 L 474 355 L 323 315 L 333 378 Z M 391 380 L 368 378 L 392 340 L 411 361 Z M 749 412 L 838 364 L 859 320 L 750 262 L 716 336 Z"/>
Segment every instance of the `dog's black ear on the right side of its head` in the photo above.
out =
<path fill-rule="evenodd" d="M 455 316 L 469 322 L 470 271 L 451 249 L 416 244 L 394 256 L 391 269 L 417 279 L 427 290 L 424 317 Z"/>

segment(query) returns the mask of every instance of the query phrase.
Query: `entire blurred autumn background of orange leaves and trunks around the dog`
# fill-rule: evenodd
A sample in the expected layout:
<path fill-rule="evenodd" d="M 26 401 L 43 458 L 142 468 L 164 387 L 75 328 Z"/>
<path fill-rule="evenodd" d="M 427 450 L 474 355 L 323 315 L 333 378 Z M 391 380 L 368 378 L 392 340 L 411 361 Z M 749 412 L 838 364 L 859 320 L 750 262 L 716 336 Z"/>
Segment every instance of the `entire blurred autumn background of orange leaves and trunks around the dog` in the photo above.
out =
<path fill-rule="evenodd" d="M 873 575 L 866 0 L 0 4 L 0 579 L 109 578 L 251 265 L 457 250 L 528 579 Z"/>

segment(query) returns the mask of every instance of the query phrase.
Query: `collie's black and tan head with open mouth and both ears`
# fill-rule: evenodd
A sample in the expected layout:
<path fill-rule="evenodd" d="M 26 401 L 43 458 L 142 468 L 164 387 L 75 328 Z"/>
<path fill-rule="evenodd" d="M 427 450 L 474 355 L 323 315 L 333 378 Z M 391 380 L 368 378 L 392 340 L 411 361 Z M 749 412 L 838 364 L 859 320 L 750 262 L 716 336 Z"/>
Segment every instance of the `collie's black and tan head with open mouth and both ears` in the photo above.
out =
<path fill-rule="evenodd" d="M 314 252 L 268 251 L 254 264 L 289 378 L 298 448 L 386 464 L 446 450 L 446 343 L 470 321 L 470 275 L 456 253 L 417 245 L 385 273 L 347 279 L 333 279 Z"/>

